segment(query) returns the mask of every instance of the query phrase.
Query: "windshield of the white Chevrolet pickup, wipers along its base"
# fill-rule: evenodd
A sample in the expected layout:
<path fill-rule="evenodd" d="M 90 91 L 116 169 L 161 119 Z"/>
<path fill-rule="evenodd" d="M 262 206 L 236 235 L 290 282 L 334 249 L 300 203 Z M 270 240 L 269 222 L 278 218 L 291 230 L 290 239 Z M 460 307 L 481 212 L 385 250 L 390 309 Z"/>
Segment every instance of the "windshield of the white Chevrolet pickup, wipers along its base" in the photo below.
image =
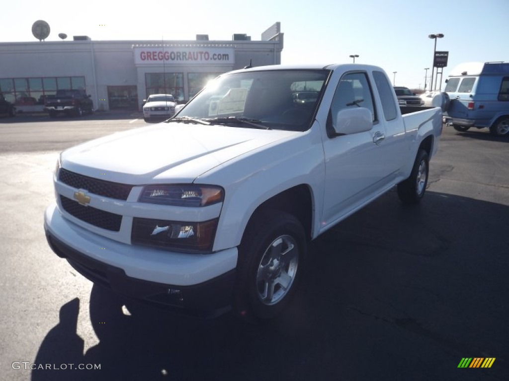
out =
<path fill-rule="evenodd" d="M 198 118 L 243 128 L 256 128 L 256 123 L 267 129 L 305 131 L 313 121 L 329 73 L 266 70 L 225 74 L 209 82 L 176 119 Z"/>

